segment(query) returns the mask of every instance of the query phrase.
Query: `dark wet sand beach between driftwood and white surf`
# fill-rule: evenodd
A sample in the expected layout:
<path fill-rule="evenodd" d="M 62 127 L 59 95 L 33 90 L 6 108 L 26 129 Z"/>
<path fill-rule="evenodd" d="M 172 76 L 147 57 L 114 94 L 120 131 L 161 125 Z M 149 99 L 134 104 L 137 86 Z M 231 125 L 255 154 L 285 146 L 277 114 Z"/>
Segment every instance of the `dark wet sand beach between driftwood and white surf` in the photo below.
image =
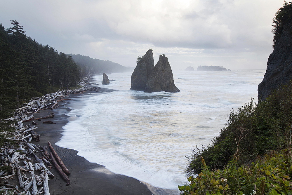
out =
<path fill-rule="evenodd" d="M 107 93 L 110 90 L 102 88 L 99 92 L 88 91 L 86 93 Z M 65 100 L 60 102 L 57 109 L 52 110 L 55 113 L 53 119 L 42 119 L 36 121 L 38 127 L 35 131 L 41 134 L 40 142 L 33 142 L 41 146 L 48 146 L 50 141 L 55 151 L 58 153 L 68 170 L 71 172 L 69 179 L 71 184 L 65 186 L 57 171 L 53 168 L 51 171 L 55 175 L 53 179 L 49 180 L 50 194 L 173 194 L 172 190 L 159 189 L 125 175 L 119 175 L 110 172 L 104 166 L 90 163 L 84 157 L 78 156 L 77 151 L 58 147 L 55 145 L 62 136 L 62 127 L 68 122 L 67 114 L 71 109 L 66 108 L 67 101 L 79 101 L 80 94 L 70 94 L 69 98 L 72 100 Z M 74 102 L 77 103 L 77 102 Z M 65 104 L 65 105 L 64 105 Z M 50 110 L 49 110 L 50 111 Z M 41 110 L 39 113 L 34 113 L 35 118 L 48 115 L 48 110 Z M 56 124 L 43 124 L 44 121 L 51 120 Z M 31 124 L 25 122 L 24 124 Z"/>

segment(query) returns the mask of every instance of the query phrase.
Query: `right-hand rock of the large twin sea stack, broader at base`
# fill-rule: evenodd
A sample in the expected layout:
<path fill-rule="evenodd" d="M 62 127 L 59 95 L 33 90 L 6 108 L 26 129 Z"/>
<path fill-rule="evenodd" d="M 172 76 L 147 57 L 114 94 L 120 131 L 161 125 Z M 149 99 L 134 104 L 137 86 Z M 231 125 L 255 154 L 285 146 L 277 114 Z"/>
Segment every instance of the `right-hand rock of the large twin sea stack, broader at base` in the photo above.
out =
<path fill-rule="evenodd" d="M 145 87 L 145 92 L 151 93 L 158 91 L 171 93 L 180 92 L 174 84 L 168 58 L 164 55 L 159 55 L 159 60 L 155 65 L 153 72 L 150 74 Z"/>

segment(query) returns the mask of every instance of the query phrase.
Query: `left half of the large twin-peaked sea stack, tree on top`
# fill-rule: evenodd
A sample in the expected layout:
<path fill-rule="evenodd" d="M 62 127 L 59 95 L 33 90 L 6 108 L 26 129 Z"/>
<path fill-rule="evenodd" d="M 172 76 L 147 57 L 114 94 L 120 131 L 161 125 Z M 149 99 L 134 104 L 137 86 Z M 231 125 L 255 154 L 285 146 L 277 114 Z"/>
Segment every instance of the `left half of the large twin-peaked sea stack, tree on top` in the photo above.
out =
<path fill-rule="evenodd" d="M 137 66 L 131 76 L 131 89 L 145 90 L 145 86 L 154 69 L 154 59 L 152 49 L 149 49 L 145 55 L 137 62 Z"/>

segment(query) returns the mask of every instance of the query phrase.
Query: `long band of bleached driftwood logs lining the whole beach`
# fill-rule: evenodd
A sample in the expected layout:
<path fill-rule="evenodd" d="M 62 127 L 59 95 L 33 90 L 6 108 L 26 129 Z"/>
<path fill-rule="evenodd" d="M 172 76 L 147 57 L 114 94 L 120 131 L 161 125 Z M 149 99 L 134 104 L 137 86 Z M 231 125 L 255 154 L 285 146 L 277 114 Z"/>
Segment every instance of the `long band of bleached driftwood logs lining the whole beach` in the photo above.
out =
<path fill-rule="evenodd" d="M 82 84 L 82 83 L 81 83 Z M 84 82 L 84 85 L 86 81 Z M 53 178 L 51 168 L 55 168 L 60 174 L 66 185 L 70 184 L 67 175 L 70 174 L 58 154 L 53 149 L 50 142 L 48 147 L 35 145 L 31 141 L 39 141 L 40 134 L 34 130 L 38 127 L 24 125 L 23 122 L 32 120 L 41 120 L 53 118 L 54 113 L 48 112 L 47 116 L 34 118 L 33 113 L 44 109 L 55 109 L 59 107 L 58 102 L 70 100 L 67 98 L 69 94 L 84 93 L 87 90 L 98 91 L 100 87 L 84 86 L 77 90 L 62 90 L 56 93 L 49 93 L 42 97 L 34 97 L 21 108 L 15 110 L 14 116 L 6 121 L 15 121 L 11 127 L 14 132 L 2 132 L 7 140 L 15 142 L 14 145 L 8 144 L 4 148 L 0 148 L 0 190 L 3 194 L 49 194 L 48 178 Z M 32 114 L 31 116 L 28 116 Z M 36 122 L 33 122 L 36 124 Z M 18 183 L 10 184 L 8 180 L 18 178 Z M 8 180 L 7 180 L 8 179 Z M 3 190 L 3 191 L 2 191 Z"/>

